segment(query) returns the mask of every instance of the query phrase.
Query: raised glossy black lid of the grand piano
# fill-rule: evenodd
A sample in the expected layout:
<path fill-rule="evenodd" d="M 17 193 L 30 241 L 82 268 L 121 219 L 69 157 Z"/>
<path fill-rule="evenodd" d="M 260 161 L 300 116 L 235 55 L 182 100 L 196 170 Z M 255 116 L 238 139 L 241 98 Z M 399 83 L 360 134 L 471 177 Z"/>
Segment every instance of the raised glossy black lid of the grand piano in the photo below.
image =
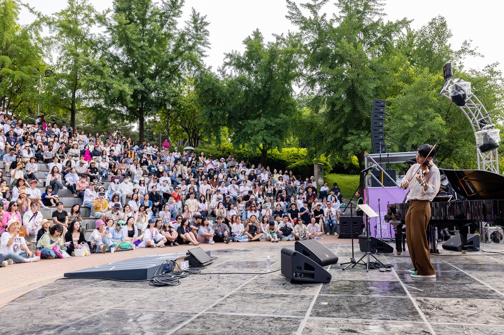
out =
<path fill-rule="evenodd" d="M 484 170 L 439 170 L 453 190 L 468 200 L 504 199 L 504 176 Z"/>

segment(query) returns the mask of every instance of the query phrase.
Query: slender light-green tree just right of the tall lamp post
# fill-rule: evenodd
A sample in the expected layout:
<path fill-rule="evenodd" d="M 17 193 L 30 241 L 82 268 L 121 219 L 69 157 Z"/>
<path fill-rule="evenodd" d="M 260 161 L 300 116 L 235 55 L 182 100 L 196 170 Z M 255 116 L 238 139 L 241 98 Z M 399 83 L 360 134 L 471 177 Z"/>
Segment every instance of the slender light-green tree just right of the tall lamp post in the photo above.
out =
<path fill-rule="evenodd" d="M 99 39 L 91 32 L 97 15 L 89 0 L 68 0 L 64 10 L 47 20 L 51 33 L 47 41 L 57 57 L 54 75 L 46 80 L 46 90 L 51 92 L 46 104 L 60 115 L 70 113 L 73 127 L 78 113 L 88 113 L 99 104 L 94 89 L 103 63 Z"/>

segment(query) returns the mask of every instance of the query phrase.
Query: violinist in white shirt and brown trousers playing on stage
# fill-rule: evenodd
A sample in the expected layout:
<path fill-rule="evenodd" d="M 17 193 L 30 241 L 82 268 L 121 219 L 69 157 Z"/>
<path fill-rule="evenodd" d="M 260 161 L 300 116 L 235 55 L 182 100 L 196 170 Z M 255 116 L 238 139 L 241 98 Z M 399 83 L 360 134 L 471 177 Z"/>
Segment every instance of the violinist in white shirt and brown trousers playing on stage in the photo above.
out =
<path fill-rule="evenodd" d="M 401 187 L 410 188 L 406 199 L 410 202 L 405 216 L 406 240 L 414 278 L 436 278 L 430 263 L 429 246 L 425 231 L 430 220 L 430 202 L 439 191 L 439 169 L 432 162 L 436 150 L 429 144 L 421 145 L 416 151 L 416 164 L 413 164 L 404 177 Z"/>

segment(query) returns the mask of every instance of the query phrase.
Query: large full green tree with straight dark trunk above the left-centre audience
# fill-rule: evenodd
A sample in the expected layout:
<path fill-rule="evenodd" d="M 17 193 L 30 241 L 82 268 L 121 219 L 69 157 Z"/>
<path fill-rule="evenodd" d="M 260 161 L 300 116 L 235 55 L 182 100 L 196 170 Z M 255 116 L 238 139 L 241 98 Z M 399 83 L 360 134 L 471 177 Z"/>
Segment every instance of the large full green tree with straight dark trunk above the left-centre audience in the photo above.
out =
<path fill-rule="evenodd" d="M 119 119 L 139 122 L 144 139 L 146 118 L 157 115 L 166 103 L 173 105 L 183 78 L 201 68 L 208 47 L 208 22 L 194 9 L 178 28 L 183 0 L 114 0 L 106 21 L 110 36 L 107 55 L 117 82 L 105 84 L 105 103 Z"/>

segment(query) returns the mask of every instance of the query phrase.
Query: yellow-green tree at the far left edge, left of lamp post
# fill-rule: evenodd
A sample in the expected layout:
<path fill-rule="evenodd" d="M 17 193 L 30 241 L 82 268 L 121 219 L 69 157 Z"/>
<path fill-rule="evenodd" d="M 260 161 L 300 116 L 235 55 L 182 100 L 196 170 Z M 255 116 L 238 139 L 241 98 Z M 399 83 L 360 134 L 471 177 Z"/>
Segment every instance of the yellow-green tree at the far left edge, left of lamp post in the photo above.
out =
<path fill-rule="evenodd" d="M 45 67 L 40 22 L 19 25 L 17 0 L 0 1 L 0 106 L 27 116 L 37 109 L 39 69 Z"/>

